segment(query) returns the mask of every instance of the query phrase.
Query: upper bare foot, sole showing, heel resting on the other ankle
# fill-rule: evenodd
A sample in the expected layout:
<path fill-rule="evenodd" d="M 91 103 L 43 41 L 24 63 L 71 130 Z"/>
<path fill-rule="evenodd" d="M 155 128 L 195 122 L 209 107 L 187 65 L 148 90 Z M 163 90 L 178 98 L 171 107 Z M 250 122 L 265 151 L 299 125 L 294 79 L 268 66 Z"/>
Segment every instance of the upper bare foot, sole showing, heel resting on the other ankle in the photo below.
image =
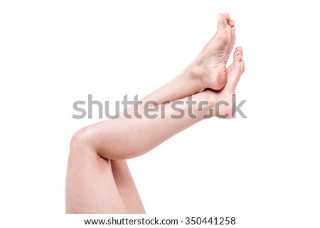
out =
<path fill-rule="evenodd" d="M 203 48 L 194 63 L 204 88 L 222 89 L 227 83 L 227 61 L 235 45 L 235 22 L 228 13 L 218 14 L 215 36 Z"/>

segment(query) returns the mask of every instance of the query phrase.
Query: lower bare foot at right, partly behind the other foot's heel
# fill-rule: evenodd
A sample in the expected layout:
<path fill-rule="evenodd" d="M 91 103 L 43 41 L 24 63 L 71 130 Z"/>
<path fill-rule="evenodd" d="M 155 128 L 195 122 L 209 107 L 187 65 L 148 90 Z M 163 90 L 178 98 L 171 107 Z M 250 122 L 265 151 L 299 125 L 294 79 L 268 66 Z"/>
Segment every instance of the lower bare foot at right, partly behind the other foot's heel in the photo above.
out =
<path fill-rule="evenodd" d="M 245 72 L 245 61 L 242 58 L 242 48 L 235 49 L 233 54 L 233 63 L 228 67 L 228 82 L 223 89 L 211 92 L 211 97 L 214 99 L 214 116 L 223 119 L 230 119 L 233 116 L 233 94 L 238 85 L 241 75 Z M 234 101 L 235 102 L 235 101 Z"/>

